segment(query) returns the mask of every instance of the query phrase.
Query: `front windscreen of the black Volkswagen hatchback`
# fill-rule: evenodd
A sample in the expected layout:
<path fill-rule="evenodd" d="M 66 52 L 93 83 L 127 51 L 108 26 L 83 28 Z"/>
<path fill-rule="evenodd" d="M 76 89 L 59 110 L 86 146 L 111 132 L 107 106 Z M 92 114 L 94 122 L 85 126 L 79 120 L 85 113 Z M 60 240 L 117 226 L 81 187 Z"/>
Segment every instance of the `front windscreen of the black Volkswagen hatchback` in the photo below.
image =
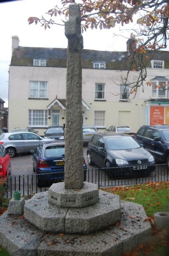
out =
<path fill-rule="evenodd" d="M 109 150 L 126 150 L 138 149 L 139 143 L 130 136 L 106 138 L 107 149 Z"/>

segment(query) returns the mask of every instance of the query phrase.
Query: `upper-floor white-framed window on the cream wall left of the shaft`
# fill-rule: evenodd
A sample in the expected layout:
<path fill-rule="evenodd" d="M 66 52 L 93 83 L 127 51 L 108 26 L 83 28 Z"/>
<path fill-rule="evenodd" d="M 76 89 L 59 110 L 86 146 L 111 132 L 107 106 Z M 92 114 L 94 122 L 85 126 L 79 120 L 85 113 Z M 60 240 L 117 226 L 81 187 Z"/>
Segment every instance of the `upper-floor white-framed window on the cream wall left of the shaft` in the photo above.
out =
<path fill-rule="evenodd" d="M 30 81 L 30 98 L 47 98 L 47 82 Z"/>

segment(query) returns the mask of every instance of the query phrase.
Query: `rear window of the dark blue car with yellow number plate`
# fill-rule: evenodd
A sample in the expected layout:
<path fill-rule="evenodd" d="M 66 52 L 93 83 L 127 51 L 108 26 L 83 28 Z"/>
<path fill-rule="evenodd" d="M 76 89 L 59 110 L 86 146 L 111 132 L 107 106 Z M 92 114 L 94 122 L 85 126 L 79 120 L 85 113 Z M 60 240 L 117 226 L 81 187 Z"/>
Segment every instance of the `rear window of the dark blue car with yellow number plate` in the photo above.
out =
<path fill-rule="evenodd" d="M 64 145 L 48 146 L 45 149 L 44 156 L 46 158 L 65 157 Z"/>

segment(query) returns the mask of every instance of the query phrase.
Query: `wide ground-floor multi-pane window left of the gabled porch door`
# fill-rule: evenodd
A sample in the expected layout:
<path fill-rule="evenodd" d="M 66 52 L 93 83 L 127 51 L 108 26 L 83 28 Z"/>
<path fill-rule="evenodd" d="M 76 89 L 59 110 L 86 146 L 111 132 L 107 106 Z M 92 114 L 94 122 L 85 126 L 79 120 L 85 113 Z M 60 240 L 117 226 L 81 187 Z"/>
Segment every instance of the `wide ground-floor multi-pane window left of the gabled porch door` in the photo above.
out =
<path fill-rule="evenodd" d="M 29 110 L 29 126 L 47 127 L 48 111 L 47 110 Z"/>

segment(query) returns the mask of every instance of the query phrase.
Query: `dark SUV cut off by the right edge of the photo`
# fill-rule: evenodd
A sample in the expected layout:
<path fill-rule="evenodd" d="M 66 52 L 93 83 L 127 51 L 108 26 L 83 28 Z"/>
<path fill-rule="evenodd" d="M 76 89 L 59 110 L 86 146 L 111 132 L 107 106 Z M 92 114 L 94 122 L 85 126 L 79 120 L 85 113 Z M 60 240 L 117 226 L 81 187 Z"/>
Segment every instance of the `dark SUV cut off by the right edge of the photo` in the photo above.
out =
<path fill-rule="evenodd" d="M 169 165 L 169 125 L 143 125 L 135 138 L 156 161 Z"/>

